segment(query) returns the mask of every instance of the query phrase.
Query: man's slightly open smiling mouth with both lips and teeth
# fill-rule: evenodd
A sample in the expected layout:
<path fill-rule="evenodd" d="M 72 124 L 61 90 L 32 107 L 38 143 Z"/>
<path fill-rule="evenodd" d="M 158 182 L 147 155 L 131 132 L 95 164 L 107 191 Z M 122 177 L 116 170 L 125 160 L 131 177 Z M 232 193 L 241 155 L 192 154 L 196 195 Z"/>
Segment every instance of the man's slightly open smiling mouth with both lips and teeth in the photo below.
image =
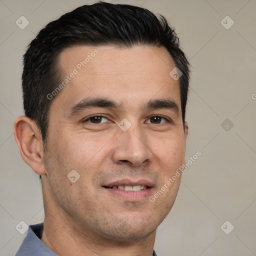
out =
<path fill-rule="evenodd" d="M 112 196 L 125 201 L 139 201 L 148 197 L 153 189 L 153 182 L 148 180 L 131 181 L 123 179 L 102 186 Z"/>

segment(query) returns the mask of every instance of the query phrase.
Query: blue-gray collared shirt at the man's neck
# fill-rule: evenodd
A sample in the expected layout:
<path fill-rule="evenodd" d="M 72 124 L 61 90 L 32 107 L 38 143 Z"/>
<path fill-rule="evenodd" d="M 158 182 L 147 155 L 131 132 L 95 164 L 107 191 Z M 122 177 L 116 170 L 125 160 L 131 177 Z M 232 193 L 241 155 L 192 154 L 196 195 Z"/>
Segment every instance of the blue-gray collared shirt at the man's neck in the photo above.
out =
<path fill-rule="evenodd" d="M 15 256 L 58 256 L 41 240 L 43 223 L 29 225 L 26 237 Z M 153 251 L 152 256 L 157 256 Z"/>

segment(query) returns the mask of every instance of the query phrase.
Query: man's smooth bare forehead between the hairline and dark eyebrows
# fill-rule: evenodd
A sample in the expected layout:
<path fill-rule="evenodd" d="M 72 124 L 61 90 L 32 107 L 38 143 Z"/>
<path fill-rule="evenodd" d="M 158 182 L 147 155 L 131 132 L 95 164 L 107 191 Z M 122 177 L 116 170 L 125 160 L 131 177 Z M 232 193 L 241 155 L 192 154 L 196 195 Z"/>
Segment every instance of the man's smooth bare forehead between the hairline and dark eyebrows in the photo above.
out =
<path fill-rule="evenodd" d="M 74 46 L 58 55 L 63 89 L 54 104 L 73 104 L 84 97 L 117 99 L 120 103 L 172 97 L 180 105 L 179 82 L 169 75 L 174 62 L 165 47 L 137 45 Z M 71 77 L 72 76 L 72 77 Z"/>

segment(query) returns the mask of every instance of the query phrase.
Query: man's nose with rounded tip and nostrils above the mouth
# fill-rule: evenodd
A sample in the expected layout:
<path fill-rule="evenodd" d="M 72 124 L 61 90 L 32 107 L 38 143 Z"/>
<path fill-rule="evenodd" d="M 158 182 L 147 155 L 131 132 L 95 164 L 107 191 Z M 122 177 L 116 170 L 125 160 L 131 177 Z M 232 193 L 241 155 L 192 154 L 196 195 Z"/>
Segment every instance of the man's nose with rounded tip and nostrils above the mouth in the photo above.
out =
<path fill-rule="evenodd" d="M 114 136 L 112 160 L 130 166 L 147 165 L 152 161 L 153 154 L 148 147 L 146 134 L 139 126 L 132 126 L 126 131 L 119 130 Z"/>

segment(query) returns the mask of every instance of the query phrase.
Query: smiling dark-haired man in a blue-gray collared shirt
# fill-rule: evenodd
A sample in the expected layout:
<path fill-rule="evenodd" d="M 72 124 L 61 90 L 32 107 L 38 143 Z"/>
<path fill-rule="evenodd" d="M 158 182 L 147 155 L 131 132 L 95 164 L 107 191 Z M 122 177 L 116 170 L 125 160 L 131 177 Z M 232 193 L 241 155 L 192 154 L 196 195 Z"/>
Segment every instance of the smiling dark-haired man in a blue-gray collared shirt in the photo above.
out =
<path fill-rule="evenodd" d="M 17 256 L 156 255 L 185 163 L 188 65 L 165 18 L 136 6 L 84 5 L 37 34 L 14 134 L 45 218 Z"/>

